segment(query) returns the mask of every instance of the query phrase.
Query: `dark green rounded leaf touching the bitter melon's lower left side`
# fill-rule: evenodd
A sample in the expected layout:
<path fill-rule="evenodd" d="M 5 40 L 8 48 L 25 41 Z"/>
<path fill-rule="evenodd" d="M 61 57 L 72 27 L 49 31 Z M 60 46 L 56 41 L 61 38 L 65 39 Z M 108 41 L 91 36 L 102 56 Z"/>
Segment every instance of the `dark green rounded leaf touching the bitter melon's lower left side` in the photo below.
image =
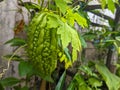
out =
<path fill-rule="evenodd" d="M 25 75 L 31 73 L 32 69 L 33 69 L 32 65 L 30 65 L 28 62 L 21 61 L 19 63 L 18 70 L 19 70 L 20 76 L 25 76 Z"/>

